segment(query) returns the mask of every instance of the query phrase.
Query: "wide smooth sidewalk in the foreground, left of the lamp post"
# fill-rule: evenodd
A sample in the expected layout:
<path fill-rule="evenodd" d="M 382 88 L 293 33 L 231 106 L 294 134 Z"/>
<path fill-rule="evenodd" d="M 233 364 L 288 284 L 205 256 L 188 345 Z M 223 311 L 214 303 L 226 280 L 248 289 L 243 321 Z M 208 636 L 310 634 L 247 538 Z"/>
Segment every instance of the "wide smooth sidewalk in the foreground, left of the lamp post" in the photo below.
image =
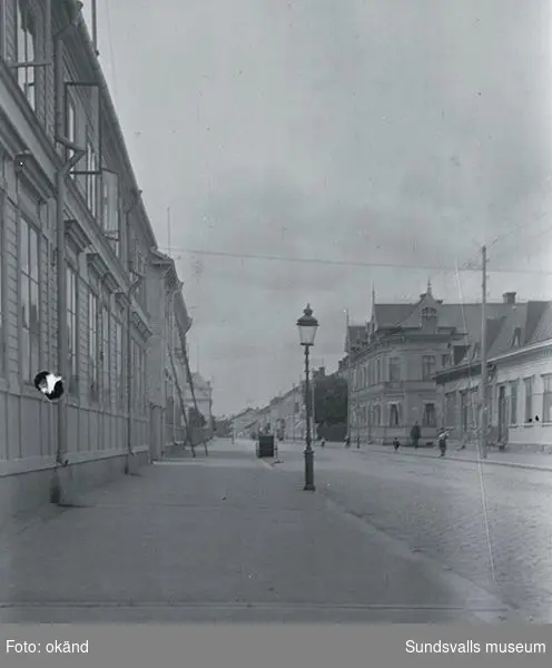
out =
<path fill-rule="evenodd" d="M 2 532 L 0 621 L 514 619 L 493 592 L 218 441 Z"/>

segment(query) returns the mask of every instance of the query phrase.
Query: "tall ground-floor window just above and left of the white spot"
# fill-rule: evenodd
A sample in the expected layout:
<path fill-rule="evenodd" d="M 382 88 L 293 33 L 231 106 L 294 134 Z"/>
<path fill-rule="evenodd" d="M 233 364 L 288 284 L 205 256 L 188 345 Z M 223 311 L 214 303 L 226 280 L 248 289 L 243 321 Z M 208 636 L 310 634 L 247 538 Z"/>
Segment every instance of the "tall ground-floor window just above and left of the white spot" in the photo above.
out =
<path fill-rule="evenodd" d="M 21 266 L 21 363 L 23 382 L 31 383 L 40 371 L 38 233 L 21 218 L 19 237 Z"/>

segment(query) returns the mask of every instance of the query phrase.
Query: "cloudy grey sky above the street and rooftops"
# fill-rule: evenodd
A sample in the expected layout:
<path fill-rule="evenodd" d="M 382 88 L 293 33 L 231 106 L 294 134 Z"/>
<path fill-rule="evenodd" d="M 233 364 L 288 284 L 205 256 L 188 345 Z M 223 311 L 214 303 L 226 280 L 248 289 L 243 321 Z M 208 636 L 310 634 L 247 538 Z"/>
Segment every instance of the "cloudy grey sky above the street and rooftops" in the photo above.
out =
<path fill-rule="evenodd" d="M 480 298 L 481 275 L 455 268 L 483 243 L 491 299 L 552 296 L 549 4 L 98 0 L 100 60 L 217 414 L 299 380 L 306 302 L 314 361 L 333 370 L 344 310 L 365 321 L 372 285 L 415 301 L 431 276 L 447 302 Z"/>

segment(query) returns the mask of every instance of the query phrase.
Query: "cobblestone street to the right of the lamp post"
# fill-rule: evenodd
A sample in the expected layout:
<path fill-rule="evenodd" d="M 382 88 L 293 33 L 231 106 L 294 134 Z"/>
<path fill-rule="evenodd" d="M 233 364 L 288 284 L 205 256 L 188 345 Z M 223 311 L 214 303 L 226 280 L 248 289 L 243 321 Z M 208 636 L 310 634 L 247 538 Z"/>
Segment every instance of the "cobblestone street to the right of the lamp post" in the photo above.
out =
<path fill-rule="evenodd" d="M 275 469 L 297 473 L 303 446 Z M 552 621 L 552 474 L 393 452 L 316 449 L 319 492 L 418 553 L 482 587 L 526 618 Z M 494 584 L 493 584 L 494 582 Z"/>

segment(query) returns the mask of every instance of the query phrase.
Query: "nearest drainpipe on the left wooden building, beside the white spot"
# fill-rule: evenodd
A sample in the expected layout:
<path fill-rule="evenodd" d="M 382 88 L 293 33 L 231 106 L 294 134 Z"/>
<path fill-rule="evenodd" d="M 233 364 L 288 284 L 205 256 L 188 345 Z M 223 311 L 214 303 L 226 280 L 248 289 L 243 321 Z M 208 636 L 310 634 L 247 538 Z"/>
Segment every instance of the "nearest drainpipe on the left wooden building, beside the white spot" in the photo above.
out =
<path fill-rule="evenodd" d="M 58 288 L 58 366 L 59 374 L 69 382 L 68 376 L 68 326 L 67 326 L 67 257 L 66 257 L 66 234 L 65 234 L 65 204 L 66 204 L 66 185 L 67 176 L 70 170 L 85 155 L 85 150 L 69 141 L 65 137 L 65 109 L 63 109 L 63 37 L 69 30 L 75 29 L 78 24 L 78 16 L 75 17 L 63 29 L 53 36 L 55 48 L 55 86 L 56 86 L 56 141 L 66 148 L 75 151 L 69 160 L 65 161 L 56 174 L 56 190 L 57 190 L 57 288 Z M 67 466 L 68 461 L 65 459 L 67 453 L 67 394 L 63 394 L 58 402 L 58 445 L 56 451 L 56 472 L 61 464 Z M 52 502 L 60 501 L 60 483 L 56 480 L 52 490 Z"/>

